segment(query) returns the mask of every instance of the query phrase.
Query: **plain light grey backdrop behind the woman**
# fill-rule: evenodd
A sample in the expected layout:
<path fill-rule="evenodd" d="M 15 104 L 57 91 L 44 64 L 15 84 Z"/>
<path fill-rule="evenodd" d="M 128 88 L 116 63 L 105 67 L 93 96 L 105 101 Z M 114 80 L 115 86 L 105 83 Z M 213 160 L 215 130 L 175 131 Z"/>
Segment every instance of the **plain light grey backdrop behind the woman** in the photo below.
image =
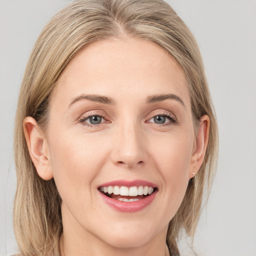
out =
<path fill-rule="evenodd" d="M 12 132 L 18 89 L 36 37 L 66 2 L 0 0 L 0 255 L 17 250 Z M 168 2 L 198 41 L 219 125 L 217 174 L 194 249 L 206 256 L 256 256 L 256 1 Z M 188 239 L 180 247 L 182 256 L 190 255 Z"/>

